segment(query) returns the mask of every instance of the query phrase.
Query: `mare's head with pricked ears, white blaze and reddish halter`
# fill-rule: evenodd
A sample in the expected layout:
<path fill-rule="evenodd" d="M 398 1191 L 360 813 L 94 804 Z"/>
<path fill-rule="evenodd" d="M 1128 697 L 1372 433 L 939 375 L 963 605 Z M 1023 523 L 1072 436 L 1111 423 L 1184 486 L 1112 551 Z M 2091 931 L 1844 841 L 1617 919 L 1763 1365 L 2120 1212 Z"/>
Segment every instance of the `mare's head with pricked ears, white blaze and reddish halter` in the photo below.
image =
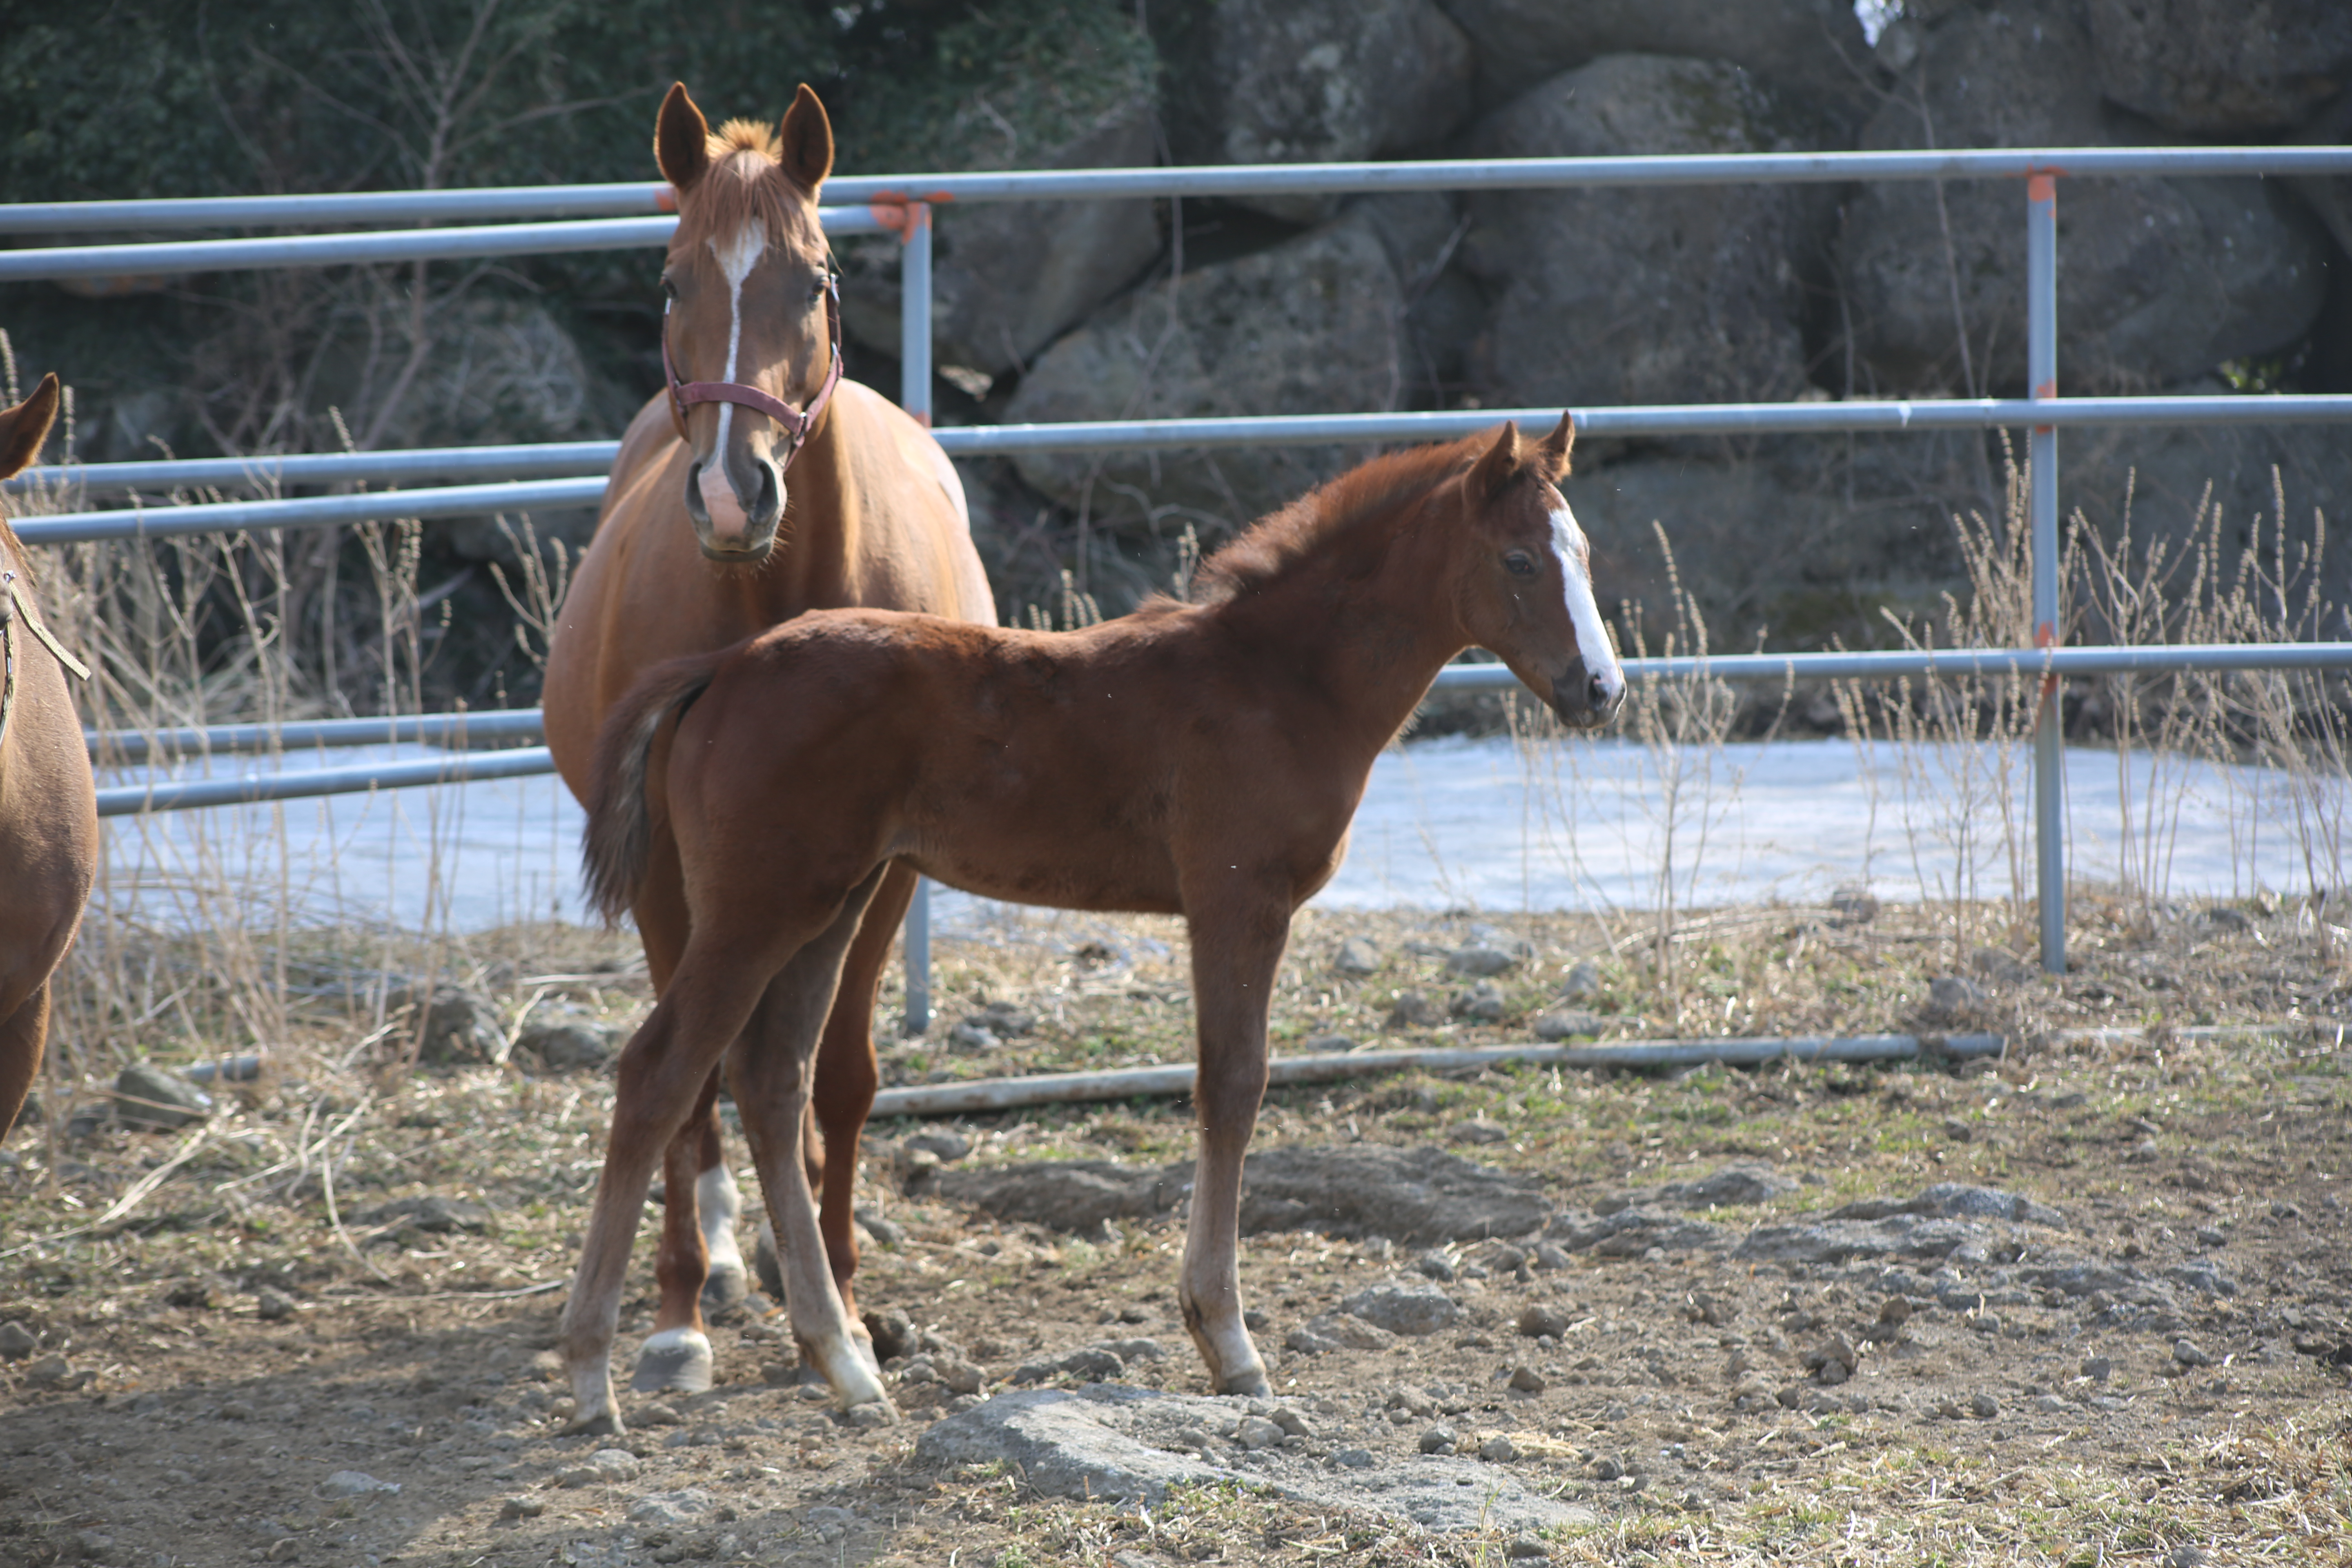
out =
<path fill-rule="evenodd" d="M 654 160 L 677 188 L 677 233 L 661 268 L 673 383 L 750 388 L 788 411 L 809 409 L 828 388 L 837 310 L 816 221 L 816 188 L 833 172 L 826 106 L 802 87 L 781 127 L 729 120 L 713 136 L 675 85 L 661 101 Z M 717 397 L 680 402 L 673 393 L 670 414 L 694 451 L 684 501 L 703 555 L 767 559 L 783 522 L 793 430 Z"/>

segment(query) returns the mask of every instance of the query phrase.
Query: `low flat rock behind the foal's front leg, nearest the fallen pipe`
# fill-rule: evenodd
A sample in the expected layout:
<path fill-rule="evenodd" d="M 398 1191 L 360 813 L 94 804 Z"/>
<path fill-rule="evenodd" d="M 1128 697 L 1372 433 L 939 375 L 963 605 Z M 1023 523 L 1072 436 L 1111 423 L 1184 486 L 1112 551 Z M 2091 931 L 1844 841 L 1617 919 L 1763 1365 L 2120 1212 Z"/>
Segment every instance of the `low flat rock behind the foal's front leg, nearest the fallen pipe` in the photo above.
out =
<path fill-rule="evenodd" d="M 943 1171 L 936 1192 L 1000 1220 L 1087 1232 L 1103 1220 L 1174 1211 L 1192 1166 L 1127 1166 L 1108 1159 Z M 1268 1150 L 1242 1173 L 1242 1234 L 1315 1229 L 1388 1237 L 1406 1246 L 1524 1237 L 1552 1218 L 1531 1182 L 1444 1150 Z"/>

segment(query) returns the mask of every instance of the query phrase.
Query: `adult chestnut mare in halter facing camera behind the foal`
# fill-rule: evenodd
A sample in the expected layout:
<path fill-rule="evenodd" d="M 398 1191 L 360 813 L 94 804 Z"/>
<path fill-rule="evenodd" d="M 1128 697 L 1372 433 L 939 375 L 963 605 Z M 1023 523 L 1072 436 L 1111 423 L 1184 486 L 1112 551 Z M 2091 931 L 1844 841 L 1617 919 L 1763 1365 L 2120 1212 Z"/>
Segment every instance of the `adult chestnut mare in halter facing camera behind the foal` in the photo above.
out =
<path fill-rule="evenodd" d="M 840 299 L 816 221 L 833 127 L 816 94 L 802 87 L 776 129 L 731 120 L 713 136 L 687 89 L 670 87 L 654 158 L 677 188 L 661 273 L 670 388 L 630 421 L 548 651 L 548 748 L 583 802 L 604 712 L 666 658 L 837 604 L 995 623 L 955 468 L 913 416 L 842 378 Z M 816 1166 L 821 1150 L 826 1251 L 844 1298 L 858 1260 L 858 1133 L 875 1093 L 875 987 L 913 886 L 898 872 L 875 893 L 816 1063 L 821 1145 L 809 1154 Z M 630 907 L 661 992 L 689 917 L 659 802 Z M 703 1305 L 743 1295 L 741 1199 L 715 1095 L 713 1077 L 663 1161 L 661 1309 L 640 1389 L 708 1387 Z"/>

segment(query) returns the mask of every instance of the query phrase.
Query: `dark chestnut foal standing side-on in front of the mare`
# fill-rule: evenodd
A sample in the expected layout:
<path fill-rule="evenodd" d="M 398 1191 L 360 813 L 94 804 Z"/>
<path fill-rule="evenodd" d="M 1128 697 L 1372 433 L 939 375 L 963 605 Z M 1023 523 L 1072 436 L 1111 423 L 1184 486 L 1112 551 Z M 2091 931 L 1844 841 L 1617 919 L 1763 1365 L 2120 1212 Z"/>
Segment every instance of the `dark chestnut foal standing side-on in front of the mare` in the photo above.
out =
<path fill-rule="evenodd" d="M 800 1135 L 844 954 L 906 867 L 988 898 L 1185 917 L 1200 1166 L 1178 1302 L 1216 1392 L 1270 1392 L 1237 1237 L 1291 912 L 1338 870 L 1374 759 L 1465 646 L 1501 654 L 1569 724 L 1625 696 L 1557 489 L 1569 442 L 1562 418 L 1538 444 L 1503 425 L 1376 458 L 1221 550 L 1190 604 L 1075 632 L 826 611 L 649 675 L 597 741 L 588 882 L 607 914 L 642 898 L 661 799 L 694 933 L 619 1063 L 562 1326 L 576 1422 L 621 1425 L 630 1234 L 722 1056 L 802 1356 L 842 1406 L 887 1403 L 826 1272 Z"/>

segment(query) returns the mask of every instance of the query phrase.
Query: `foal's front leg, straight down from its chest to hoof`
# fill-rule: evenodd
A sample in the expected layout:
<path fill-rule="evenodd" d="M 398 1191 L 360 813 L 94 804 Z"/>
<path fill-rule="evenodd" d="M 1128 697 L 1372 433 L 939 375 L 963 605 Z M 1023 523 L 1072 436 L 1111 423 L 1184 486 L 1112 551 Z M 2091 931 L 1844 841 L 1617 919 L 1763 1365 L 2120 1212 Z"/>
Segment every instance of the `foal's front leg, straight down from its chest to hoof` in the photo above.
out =
<path fill-rule="evenodd" d="M 1289 940 L 1287 903 L 1225 900 L 1190 914 L 1200 1016 L 1200 1164 L 1176 1302 L 1216 1394 L 1272 1394 L 1242 1324 L 1242 1157 L 1265 1095 L 1265 1011 Z"/>

